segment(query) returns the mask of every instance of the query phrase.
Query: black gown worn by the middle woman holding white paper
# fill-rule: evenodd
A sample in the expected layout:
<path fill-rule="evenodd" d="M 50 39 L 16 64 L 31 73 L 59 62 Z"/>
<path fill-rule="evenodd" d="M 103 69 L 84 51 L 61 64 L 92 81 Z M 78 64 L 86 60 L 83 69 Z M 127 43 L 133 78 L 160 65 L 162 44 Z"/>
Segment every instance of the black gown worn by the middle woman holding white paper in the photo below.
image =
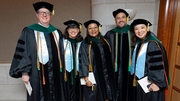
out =
<path fill-rule="evenodd" d="M 86 40 L 86 39 L 85 39 Z M 91 40 L 92 41 L 92 40 Z M 92 87 L 82 86 L 83 94 L 85 95 L 85 101 L 105 101 L 106 99 L 112 99 L 112 92 L 110 88 L 107 64 L 109 60 L 106 60 L 105 50 L 109 50 L 107 43 L 102 45 L 99 40 L 93 40 L 92 46 L 89 48 L 90 44 L 86 41 L 81 43 L 79 59 L 80 59 L 80 70 L 79 76 L 85 77 L 89 73 L 89 57 L 91 59 L 93 74 L 95 76 L 96 84 L 94 89 Z M 90 49 L 90 54 L 89 54 Z M 107 55 L 108 56 L 108 55 Z"/>

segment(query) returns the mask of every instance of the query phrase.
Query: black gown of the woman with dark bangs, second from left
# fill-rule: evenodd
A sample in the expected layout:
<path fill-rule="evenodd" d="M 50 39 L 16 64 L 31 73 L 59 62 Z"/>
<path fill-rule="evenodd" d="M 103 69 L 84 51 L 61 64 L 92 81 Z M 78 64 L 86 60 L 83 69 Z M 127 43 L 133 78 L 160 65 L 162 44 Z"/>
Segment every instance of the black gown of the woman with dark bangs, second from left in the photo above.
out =
<path fill-rule="evenodd" d="M 80 42 L 78 42 L 76 39 L 67 39 L 67 40 L 71 42 L 73 69 L 71 72 L 66 71 L 66 76 L 67 76 L 67 81 L 65 82 L 65 85 L 66 85 L 65 92 L 67 95 L 66 101 L 83 101 L 80 78 L 79 78 L 79 71 L 76 68 L 76 65 L 77 65 L 76 54 L 78 55 L 77 48 Z M 68 61 L 66 58 L 65 60 Z"/>

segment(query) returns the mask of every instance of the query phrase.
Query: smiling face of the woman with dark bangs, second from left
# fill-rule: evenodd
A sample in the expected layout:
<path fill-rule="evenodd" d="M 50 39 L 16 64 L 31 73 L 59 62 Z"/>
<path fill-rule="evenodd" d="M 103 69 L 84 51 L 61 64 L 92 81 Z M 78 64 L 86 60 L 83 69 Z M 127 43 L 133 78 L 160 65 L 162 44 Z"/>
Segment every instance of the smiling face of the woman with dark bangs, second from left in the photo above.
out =
<path fill-rule="evenodd" d="M 78 35 L 79 33 L 79 28 L 68 28 L 68 34 L 69 34 L 69 38 L 72 38 L 72 39 L 75 39 L 76 36 Z"/>

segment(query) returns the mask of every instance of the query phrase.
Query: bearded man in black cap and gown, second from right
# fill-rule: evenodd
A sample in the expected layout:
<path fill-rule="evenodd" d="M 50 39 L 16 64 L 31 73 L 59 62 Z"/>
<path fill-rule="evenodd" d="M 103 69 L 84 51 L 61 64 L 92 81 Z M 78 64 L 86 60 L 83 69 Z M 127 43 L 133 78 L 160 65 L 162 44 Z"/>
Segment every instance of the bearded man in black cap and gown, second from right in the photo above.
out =
<path fill-rule="evenodd" d="M 109 40 L 112 49 L 112 62 L 115 75 L 114 101 L 127 101 L 128 75 L 131 57 L 130 26 L 127 24 L 129 14 L 123 9 L 113 11 L 117 27 L 109 30 L 105 38 Z"/>

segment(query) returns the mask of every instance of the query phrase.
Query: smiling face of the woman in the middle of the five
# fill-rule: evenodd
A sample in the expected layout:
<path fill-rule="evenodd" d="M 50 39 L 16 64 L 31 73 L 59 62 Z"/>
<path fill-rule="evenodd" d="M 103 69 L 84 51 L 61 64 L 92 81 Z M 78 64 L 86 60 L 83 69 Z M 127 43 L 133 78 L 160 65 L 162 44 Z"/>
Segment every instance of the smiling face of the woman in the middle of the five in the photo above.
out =
<path fill-rule="evenodd" d="M 88 30 L 89 35 L 92 37 L 97 37 L 99 34 L 98 25 L 95 23 L 89 24 L 87 30 Z"/>

